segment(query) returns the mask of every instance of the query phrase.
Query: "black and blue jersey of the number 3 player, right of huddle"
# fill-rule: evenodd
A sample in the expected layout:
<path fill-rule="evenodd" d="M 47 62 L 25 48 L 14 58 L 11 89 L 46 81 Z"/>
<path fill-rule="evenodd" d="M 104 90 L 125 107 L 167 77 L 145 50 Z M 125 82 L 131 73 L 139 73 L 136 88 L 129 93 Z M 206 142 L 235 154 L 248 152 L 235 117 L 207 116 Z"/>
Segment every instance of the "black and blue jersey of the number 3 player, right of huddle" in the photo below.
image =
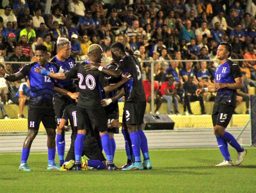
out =
<path fill-rule="evenodd" d="M 124 84 L 125 101 L 146 101 L 139 61 L 133 56 L 125 56 L 119 61 L 117 68 L 120 69 L 123 74 L 131 73 L 133 78 Z"/>

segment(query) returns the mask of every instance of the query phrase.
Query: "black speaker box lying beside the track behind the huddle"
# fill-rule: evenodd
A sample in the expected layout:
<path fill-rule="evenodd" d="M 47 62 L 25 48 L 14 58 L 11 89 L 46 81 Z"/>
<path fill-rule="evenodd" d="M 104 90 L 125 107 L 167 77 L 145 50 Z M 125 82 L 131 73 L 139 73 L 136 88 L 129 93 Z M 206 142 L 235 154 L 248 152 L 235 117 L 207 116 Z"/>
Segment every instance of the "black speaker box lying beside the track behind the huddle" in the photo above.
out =
<path fill-rule="evenodd" d="M 174 121 L 167 114 L 145 114 L 143 130 L 173 130 Z"/>

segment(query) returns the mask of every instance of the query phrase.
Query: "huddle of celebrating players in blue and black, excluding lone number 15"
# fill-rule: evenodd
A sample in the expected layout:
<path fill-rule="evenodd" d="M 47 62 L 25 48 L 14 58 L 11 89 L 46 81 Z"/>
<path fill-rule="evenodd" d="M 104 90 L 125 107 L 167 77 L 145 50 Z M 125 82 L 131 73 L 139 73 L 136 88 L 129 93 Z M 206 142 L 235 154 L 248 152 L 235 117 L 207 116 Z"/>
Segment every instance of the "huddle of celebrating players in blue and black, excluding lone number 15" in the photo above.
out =
<path fill-rule="evenodd" d="M 49 62 L 46 60 L 46 47 L 38 44 L 35 47 L 36 62 L 25 65 L 13 75 L 0 69 L 0 76 L 8 81 L 27 77 L 30 82 L 28 134 L 19 170 L 31 171 L 27 159 L 40 122 L 47 133 L 47 170 L 87 170 L 87 166 L 108 170 L 152 168 L 147 138 L 141 129 L 146 99 L 140 64 L 136 58 L 125 54 L 121 43 L 113 44 L 111 50 L 114 60 L 105 68 L 98 65 L 103 57 L 98 44 L 88 48 L 87 61 L 76 64 L 70 56 L 71 42 L 58 38 L 57 55 Z M 78 87 L 75 84 L 77 80 Z M 125 96 L 125 105 L 120 123 L 118 99 L 122 96 Z M 72 128 L 71 146 L 64 160 L 68 120 Z M 127 164 L 118 168 L 113 162 L 116 148 L 114 133 L 119 133 L 120 126 L 125 139 Z M 59 166 L 54 161 L 56 146 Z"/>

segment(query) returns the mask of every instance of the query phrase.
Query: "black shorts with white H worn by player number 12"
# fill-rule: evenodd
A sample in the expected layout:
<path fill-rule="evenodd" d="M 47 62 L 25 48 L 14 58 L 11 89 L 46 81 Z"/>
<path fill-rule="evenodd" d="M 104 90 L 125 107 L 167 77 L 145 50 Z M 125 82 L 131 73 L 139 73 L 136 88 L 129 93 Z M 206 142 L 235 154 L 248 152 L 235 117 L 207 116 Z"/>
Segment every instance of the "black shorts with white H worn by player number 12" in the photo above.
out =
<path fill-rule="evenodd" d="M 55 113 L 53 108 L 28 107 L 28 129 L 39 129 L 42 121 L 44 128 L 56 129 Z"/>

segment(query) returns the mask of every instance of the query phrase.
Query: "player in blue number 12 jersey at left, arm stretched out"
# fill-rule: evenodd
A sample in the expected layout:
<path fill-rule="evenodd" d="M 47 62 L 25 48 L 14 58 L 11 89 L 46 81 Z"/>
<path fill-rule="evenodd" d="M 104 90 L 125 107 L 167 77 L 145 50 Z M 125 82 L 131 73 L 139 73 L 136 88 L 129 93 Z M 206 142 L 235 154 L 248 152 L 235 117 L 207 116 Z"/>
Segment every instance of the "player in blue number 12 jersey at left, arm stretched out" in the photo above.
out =
<path fill-rule="evenodd" d="M 31 171 L 31 169 L 27 166 L 27 159 L 29 156 L 31 144 L 38 133 L 41 121 L 47 133 L 47 170 L 59 170 L 60 167 L 56 166 L 54 161 L 56 151 L 56 121 L 54 118 L 55 114 L 52 103 L 54 80 L 48 76 L 35 73 L 34 69 L 36 67 L 43 67 L 51 72 L 63 72 L 63 70 L 59 68 L 58 65 L 47 62 L 47 49 L 43 44 L 38 44 L 35 46 L 35 56 L 37 62 L 25 65 L 16 74 L 9 75 L 6 74 L 2 68 L 0 69 L 0 77 L 4 77 L 7 81 L 15 82 L 28 76 L 30 82 L 30 99 L 28 104 L 28 134 L 23 144 L 19 170 Z"/>

